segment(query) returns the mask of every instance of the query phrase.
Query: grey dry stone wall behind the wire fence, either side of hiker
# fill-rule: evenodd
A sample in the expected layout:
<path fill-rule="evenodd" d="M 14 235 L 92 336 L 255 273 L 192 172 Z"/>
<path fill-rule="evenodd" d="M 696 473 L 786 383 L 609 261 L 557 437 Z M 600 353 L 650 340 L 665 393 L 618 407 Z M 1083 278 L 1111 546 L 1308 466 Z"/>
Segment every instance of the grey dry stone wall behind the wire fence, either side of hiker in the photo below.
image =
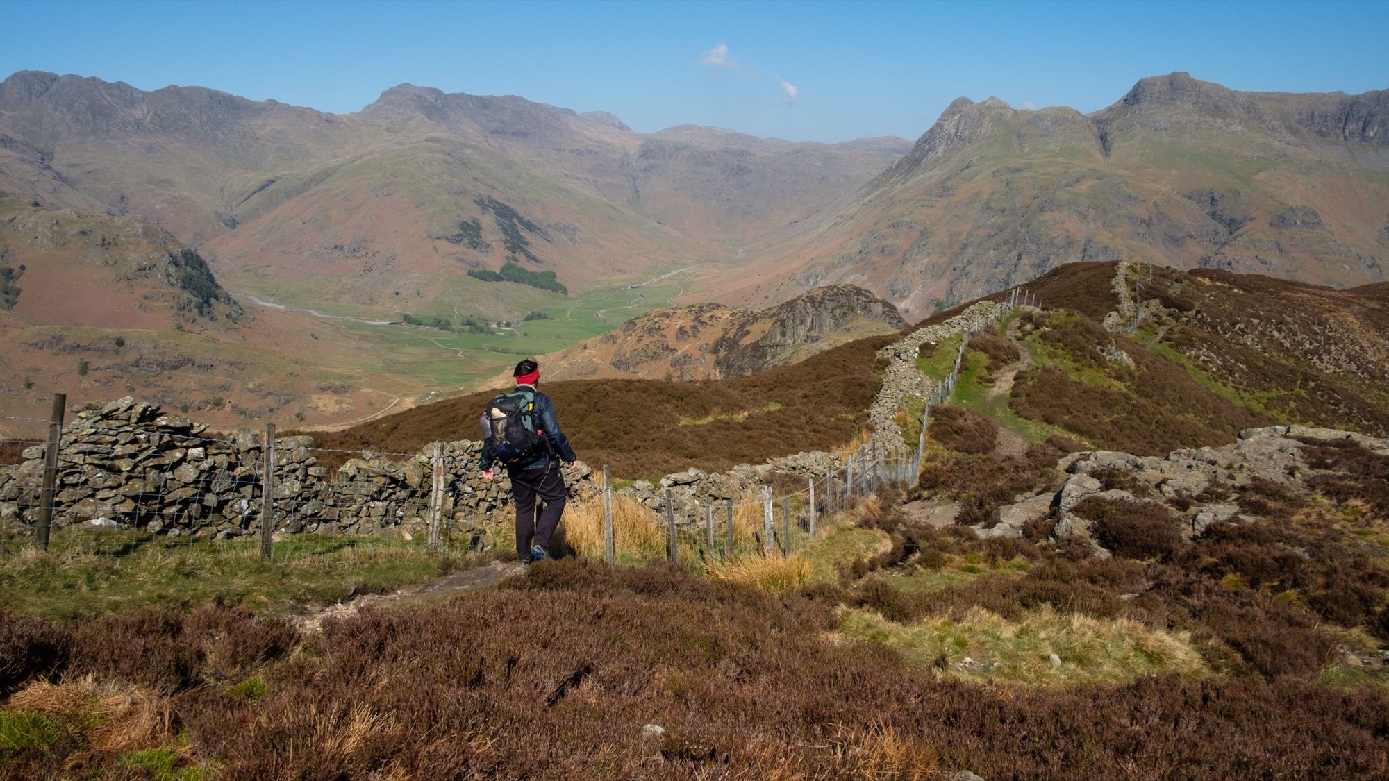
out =
<path fill-rule="evenodd" d="M 264 435 L 249 428 L 210 434 L 206 424 L 132 397 L 92 404 L 60 441 L 53 523 L 140 528 L 165 535 L 235 538 L 260 531 L 264 507 Z M 325 450 L 311 436 L 275 439 L 274 528 L 281 532 L 425 534 L 435 450 L 442 450 L 442 513 L 457 532 L 486 536 L 486 521 L 511 502 L 504 477 L 481 477 L 482 443 L 435 442 L 419 453 L 353 454 L 338 468 L 319 466 Z M 0 523 L 32 525 L 39 513 L 44 446 L 0 468 Z M 622 489 L 664 521 L 664 489 L 681 525 L 703 523 L 701 506 L 760 491 L 774 474 L 824 477 L 840 467 L 833 453 L 797 453 L 721 474 L 675 472 L 660 486 Z M 565 472 L 571 498 L 600 491 L 582 461 Z"/>

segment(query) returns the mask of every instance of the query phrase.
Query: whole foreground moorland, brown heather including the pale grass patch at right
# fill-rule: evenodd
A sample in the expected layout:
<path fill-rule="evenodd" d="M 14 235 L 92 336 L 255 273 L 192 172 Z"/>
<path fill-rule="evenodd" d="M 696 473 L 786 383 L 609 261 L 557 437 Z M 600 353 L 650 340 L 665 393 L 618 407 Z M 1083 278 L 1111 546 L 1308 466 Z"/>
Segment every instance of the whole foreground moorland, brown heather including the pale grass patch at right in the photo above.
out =
<path fill-rule="evenodd" d="M 1336 514 L 1249 500 L 1279 510 L 1103 561 L 935 529 L 882 495 L 825 539 L 879 535 L 876 553 L 779 595 L 568 559 L 321 634 L 225 602 L 3 613 L 0 763 L 29 778 L 1389 771 L 1389 695 L 1339 650 L 1383 636 L 1356 607 L 1357 588 L 1383 596 L 1383 571 L 1336 575 L 1357 539 Z"/>

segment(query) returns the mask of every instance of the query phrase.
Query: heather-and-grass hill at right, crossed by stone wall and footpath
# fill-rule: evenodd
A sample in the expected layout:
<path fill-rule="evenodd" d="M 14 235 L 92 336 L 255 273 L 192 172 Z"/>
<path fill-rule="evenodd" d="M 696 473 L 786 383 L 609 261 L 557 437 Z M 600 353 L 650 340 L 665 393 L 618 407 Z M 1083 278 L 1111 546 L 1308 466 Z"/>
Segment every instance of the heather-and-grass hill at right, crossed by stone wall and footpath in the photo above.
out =
<path fill-rule="evenodd" d="M 1335 290 L 1096 263 L 1025 289 L 1040 307 L 971 339 L 928 431 L 922 489 L 958 503 L 970 524 L 1040 488 L 1039 447 L 1201 460 L 1190 453 L 1270 425 L 1389 435 L 1382 283 Z M 917 368 L 940 382 L 958 346 L 958 336 L 924 345 Z M 899 420 L 915 436 L 913 413 Z"/>

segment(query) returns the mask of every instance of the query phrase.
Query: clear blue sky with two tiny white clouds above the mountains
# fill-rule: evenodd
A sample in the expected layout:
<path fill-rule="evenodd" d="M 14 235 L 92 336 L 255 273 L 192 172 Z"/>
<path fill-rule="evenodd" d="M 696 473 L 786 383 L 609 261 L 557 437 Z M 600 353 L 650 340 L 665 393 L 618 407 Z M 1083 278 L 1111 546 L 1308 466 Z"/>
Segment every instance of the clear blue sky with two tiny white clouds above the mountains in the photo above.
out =
<path fill-rule="evenodd" d="M 401 82 L 793 140 L 917 138 L 946 104 L 1093 111 L 1142 76 L 1389 89 L 1389 3 L 0 0 L 0 76 L 199 85 L 349 113 Z"/>

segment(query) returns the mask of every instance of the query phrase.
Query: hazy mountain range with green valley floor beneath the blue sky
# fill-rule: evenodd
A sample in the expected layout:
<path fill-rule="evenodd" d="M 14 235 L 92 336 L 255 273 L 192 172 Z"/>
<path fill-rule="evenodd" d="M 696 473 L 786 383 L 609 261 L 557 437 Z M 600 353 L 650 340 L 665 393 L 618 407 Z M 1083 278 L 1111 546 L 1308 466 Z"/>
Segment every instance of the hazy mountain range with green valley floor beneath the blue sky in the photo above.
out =
<path fill-rule="evenodd" d="M 1239 93 L 1172 74 L 1089 115 L 961 99 L 901 156 L 890 138 L 643 135 L 603 113 L 413 85 L 329 115 L 21 72 L 0 82 L 0 188 L 19 196 L 6 208 L 39 208 L 71 236 L 22 243 L 57 256 L 11 263 L 6 285 L 21 292 L 3 327 L 11 339 L 40 325 L 126 329 L 154 357 L 107 361 L 99 332 L 25 336 L 8 409 L 38 413 L 58 388 L 75 402 L 128 388 L 215 410 L 219 424 L 346 424 L 535 354 L 551 378 L 728 378 L 883 332 L 876 315 L 813 322 L 815 306 L 795 303 L 810 290 L 854 285 L 911 321 L 1071 261 L 1372 285 L 1389 247 L 1383 117 L 1379 92 Z M 101 236 L 122 231 L 206 268 L 142 270 L 110 288 L 103 270 L 128 261 Z M 60 268 L 68 288 L 50 296 L 44 275 Z M 207 300 L 146 285 L 197 286 L 189 274 L 204 271 Z M 676 303 L 697 306 L 622 325 Z M 1325 306 L 1332 320 L 1351 299 Z M 1199 360 L 1179 334 L 1164 349 Z M 75 374 L 79 361 L 90 374 Z M 254 389 L 228 404 L 240 384 L 179 377 L 204 364 Z M 1258 371 L 1283 368 L 1301 371 Z M 39 375 L 51 381 L 24 385 Z M 1328 402 L 1336 414 L 1318 414 L 1371 425 L 1372 382 L 1345 388 Z M 1260 409 L 1307 417 L 1320 402 L 1279 403 Z"/>

